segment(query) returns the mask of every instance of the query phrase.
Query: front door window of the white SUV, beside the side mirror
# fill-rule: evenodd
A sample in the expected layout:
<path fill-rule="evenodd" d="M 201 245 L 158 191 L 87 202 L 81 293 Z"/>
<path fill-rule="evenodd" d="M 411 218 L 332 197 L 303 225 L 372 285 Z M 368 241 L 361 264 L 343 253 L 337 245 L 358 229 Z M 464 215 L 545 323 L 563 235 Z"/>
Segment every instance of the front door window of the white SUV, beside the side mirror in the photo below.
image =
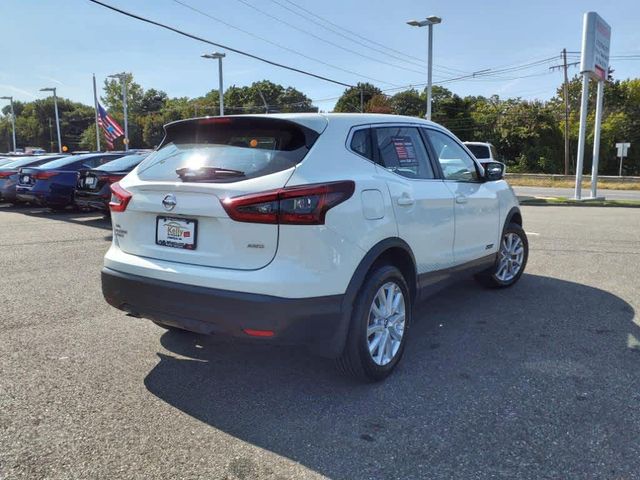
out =
<path fill-rule="evenodd" d="M 449 135 L 426 129 L 445 180 L 473 182 L 478 180 L 476 163 L 471 156 Z"/>

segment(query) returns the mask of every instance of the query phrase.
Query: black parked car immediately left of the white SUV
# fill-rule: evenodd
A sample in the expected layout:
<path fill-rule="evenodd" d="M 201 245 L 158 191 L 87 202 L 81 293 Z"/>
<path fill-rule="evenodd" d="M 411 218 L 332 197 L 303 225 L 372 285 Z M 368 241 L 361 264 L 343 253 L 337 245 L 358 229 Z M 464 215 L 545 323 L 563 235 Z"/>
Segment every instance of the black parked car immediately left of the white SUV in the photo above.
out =
<path fill-rule="evenodd" d="M 122 180 L 147 155 L 148 153 L 127 155 L 98 168 L 80 170 L 76 186 L 76 206 L 108 212 L 111 184 Z"/>

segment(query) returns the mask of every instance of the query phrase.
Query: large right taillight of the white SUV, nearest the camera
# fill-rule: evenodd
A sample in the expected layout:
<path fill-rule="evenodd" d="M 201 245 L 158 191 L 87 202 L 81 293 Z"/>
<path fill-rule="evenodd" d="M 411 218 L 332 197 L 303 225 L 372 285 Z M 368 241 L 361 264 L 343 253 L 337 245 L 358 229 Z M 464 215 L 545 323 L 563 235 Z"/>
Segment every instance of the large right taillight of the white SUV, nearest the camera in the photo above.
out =
<path fill-rule="evenodd" d="M 355 183 L 318 183 L 225 198 L 222 206 L 238 222 L 323 225 L 327 211 L 353 195 Z"/>

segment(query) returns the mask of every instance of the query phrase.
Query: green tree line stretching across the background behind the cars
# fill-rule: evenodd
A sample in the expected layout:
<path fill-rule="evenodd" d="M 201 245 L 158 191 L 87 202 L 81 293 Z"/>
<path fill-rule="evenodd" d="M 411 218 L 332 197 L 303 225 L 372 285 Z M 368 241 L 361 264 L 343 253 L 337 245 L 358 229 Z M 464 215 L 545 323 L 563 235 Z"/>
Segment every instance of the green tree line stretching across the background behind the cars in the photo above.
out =
<path fill-rule="evenodd" d="M 153 148 L 163 137 L 163 125 L 171 121 L 218 115 L 219 95 L 211 90 L 202 97 L 169 97 L 154 88 L 144 89 L 131 75 L 128 87 L 129 138 L 133 148 Z M 595 116 L 595 88 L 589 99 L 585 172 L 591 169 L 591 148 Z M 426 110 L 425 91 L 410 88 L 385 94 L 375 85 L 359 83 L 347 88 L 338 99 L 335 112 L 389 113 L 422 117 Z M 564 98 L 562 88 L 548 101 L 522 98 L 461 97 L 442 86 L 433 87 L 432 117 L 462 140 L 491 142 L 511 172 L 562 173 L 564 171 Z M 574 170 L 580 115 L 581 81 L 569 83 L 569 140 Z M 122 96 L 119 81 L 108 79 L 101 96 L 103 105 L 122 125 Z M 225 114 L 317 112 L 303 92 L 268 80 L 249 86 L 231 86 L 224 93 Z M 55 150 L 53 99 L 14 102 L 19 146 Z M 94 111 L 64 98 L 58 99 L 63 144 L 70 150 L 96 148 Z M 0 117 L 0 150 L 11 149 L 9 107 Z M 616 175 L 615 144 L 631 142 L 623 174 L 640 175 L 640 79 L 614 80 L 605 87 L 600 173 Z M 634 148 L 635 147 L 635 148 Z M 103 143 L 104 148 L 104 143 Z M 122 143 L 116 148 L 122 148 Z"/>

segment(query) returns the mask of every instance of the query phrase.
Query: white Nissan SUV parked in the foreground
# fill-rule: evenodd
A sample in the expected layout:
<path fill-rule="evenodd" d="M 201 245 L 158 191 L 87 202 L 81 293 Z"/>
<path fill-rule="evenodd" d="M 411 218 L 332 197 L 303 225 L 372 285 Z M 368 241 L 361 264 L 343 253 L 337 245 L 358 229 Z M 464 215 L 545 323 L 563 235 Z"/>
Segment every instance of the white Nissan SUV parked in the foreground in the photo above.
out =
<path fill-rule="evenodd" d="M 462 273 L 508 287 L 525 268 L 503 165 L 483 168 L 437 124 L 282 114 L 165 130 L 112 186 L 102 289 L 130 315 L 306 345 L 380 380 L 425 295 Z"/>

